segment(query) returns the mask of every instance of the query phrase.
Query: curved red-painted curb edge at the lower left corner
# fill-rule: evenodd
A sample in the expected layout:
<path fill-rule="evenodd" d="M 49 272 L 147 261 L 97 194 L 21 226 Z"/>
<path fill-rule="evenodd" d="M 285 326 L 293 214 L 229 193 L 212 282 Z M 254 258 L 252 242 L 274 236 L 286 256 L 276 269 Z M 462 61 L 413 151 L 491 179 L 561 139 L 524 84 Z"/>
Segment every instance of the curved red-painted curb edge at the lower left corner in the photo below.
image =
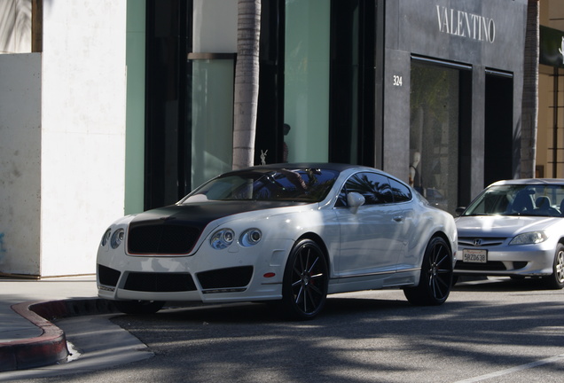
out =
<path fill-rule="evenodd" d="M 12 305 L 12 309 L 43 333 L 35 338 L 0 343 L 0 372 L 43 367 L 67 358 L 65 332 L 51 320 L 119 312 L 112 301 L 98 298 L 24 302 Z"/>

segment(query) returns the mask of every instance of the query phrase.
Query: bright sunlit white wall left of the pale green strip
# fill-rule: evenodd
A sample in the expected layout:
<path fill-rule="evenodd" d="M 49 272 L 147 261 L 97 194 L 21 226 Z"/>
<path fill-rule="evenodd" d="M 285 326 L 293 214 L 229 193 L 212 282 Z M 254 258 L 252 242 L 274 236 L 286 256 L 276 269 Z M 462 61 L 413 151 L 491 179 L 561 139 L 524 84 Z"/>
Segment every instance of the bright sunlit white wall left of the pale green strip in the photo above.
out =
<path fill-rule="evenodd" d="M 123 215 L 126 2 L 43 2 L 41 274 L 95 272 Z"/>

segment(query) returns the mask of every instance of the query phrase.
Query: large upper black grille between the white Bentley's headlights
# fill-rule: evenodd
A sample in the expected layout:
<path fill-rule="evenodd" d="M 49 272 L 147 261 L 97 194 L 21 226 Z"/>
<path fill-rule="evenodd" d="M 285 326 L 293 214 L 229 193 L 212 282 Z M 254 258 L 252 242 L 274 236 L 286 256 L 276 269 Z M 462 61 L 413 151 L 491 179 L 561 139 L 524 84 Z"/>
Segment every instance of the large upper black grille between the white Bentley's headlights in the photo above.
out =
<path fill-rule="evenodd" d="M 188 254 L 200 230 L 182 225 L 158 224 L 129 228 L 130 254 Z"/>

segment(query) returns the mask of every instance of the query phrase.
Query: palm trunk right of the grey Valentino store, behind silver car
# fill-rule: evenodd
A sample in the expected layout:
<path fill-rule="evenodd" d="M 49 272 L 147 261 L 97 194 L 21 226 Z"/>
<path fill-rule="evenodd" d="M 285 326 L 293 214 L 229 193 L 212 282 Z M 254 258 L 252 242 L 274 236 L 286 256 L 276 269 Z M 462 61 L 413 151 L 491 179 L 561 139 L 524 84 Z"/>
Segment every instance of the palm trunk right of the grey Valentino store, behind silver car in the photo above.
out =
<path fill-rule="evenodd" d="M 538 0 L 527 4 L 523 98 L 521 104 L 521 177 L 535 176 L 538 116 Z"/>

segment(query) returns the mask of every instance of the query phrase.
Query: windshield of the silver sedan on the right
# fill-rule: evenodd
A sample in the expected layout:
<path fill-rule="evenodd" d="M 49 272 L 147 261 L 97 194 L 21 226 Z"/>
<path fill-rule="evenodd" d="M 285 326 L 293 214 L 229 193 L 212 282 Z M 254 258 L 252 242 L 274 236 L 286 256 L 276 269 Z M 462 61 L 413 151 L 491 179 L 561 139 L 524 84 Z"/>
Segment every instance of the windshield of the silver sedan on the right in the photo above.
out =
<path fill-rule="evenodd" d="M 562 216 L 564 186 L 509 184 L 483 191 L 463 215 Z"/>

